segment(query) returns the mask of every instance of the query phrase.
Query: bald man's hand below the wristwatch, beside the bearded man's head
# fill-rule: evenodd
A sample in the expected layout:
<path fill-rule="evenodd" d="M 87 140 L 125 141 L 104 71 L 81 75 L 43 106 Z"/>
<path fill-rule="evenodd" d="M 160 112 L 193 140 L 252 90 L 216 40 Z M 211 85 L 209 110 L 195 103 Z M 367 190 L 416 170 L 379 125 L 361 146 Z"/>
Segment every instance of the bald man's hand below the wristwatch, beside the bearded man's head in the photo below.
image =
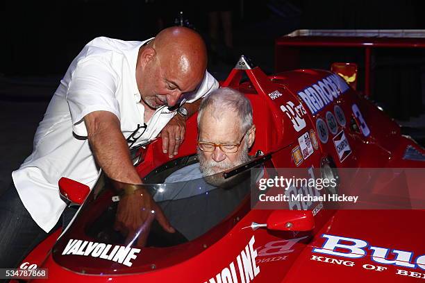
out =
<path fill-rule="evenodd" d="M 163 153 L 168 153 L 173 158 L 178 153 L 178 147 L 185 139 L 186 120 L 176 114 L 160 132 L 163 138 Z"/>

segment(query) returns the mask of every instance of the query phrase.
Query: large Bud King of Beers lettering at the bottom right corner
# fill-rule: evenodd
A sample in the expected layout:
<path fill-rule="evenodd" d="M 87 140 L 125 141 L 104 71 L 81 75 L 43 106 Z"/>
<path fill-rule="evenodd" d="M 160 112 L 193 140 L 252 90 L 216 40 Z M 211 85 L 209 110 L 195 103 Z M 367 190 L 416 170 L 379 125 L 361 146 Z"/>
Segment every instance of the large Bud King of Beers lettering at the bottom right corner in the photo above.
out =
<path fill-rule="evenodd" d="M 425 270 L 425 255 L 419 255 L 415 259 L 413 257 L 414 253 L 408 250 L 372 246 L 361 239 L 331 234 L 322 234 L 322 238 L 326 239 L 322 247 L 313 248 L 314 253 L 321 255 L 312 255 L 311 260 L 353 267 L 356 266 L 356 262 L 353 259 L 364 258 L 366 260 L 370 259 L 370 264 L 363 264 L 364 261 L 362 262 L 362 267 L 366 270 L 385 272 L 389 266 L 395 266 L 397 268 L 395 275 L 425 279 L 425 273 L 415 272 L 411 269 L 409 271 L 400 269 L 415 268 Z M 336 259 L 330 256 L 342 257 L 343 259 Z"/>

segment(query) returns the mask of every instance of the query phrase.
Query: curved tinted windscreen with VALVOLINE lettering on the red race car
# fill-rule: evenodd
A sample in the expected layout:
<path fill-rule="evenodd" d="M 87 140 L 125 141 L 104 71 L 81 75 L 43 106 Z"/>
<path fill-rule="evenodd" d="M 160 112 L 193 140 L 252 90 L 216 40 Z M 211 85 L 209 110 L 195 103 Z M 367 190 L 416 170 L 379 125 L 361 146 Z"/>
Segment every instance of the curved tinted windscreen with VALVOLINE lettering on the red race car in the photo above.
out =
<path fill-rule="evenodd" d="M 192 257 L 249 212 L 251 171 L 203 178 L 199 164 L 161 184 L 99 178 L 53 248 L 53 259 L 88 274 L 151 271 Z M 214 232 L 209 233 L 209 231 Z"/>

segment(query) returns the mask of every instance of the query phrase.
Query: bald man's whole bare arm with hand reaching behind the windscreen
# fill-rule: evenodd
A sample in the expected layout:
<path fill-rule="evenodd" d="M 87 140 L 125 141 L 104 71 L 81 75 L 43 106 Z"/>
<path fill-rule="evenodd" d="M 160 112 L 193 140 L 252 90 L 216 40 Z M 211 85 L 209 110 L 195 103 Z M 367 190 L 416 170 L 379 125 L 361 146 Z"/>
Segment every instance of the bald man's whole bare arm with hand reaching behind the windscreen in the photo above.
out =
<path fill-rule="evenodd" d="M 84 122 L 94 157 L 106 175 L 120 182 L 142 183 L 131 162 L 118 118 L 107 111 L 96 111 L 86 115 Z M 138 245 L 144 246 L 153 218 L 165 231 L 175 232 L 149 192 L 140 187 L 137 194 L 124 194 L 119 200 L 114 228 L 127 237 L 126 241 L 138 239 Z"/>

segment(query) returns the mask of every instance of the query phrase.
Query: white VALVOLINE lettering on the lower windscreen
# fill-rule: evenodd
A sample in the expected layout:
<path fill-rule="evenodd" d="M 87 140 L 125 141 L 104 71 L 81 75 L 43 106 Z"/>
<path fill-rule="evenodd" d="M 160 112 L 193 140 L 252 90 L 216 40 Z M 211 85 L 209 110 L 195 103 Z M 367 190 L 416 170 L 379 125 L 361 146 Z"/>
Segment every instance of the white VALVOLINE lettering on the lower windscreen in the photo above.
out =
<path fill-rule="evenodd" d="M 133 264 L 131 261 L 136 259 L 136 254 L 139 252 L 140 248 L 70 239 L 62 254 L 99 257 L 99 259 L 107 259 L 124 264 L 125 266 L 131 266 Z"/>

